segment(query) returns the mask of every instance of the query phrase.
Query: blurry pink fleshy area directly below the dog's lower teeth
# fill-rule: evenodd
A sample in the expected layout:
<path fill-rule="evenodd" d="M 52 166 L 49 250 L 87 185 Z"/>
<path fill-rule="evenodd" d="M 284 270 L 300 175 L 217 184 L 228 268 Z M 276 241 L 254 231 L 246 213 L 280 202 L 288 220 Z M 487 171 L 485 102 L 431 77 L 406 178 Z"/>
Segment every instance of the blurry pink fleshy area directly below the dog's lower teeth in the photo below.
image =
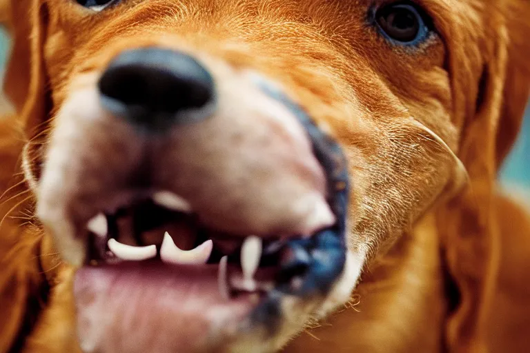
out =
<path fill-rule="evenodd" d="M 124 263 L 81 268 L 74 285 L 85 352 L 193 352 L 230 335 L 251 305 L 225 301 L 217 265 Z"/>

